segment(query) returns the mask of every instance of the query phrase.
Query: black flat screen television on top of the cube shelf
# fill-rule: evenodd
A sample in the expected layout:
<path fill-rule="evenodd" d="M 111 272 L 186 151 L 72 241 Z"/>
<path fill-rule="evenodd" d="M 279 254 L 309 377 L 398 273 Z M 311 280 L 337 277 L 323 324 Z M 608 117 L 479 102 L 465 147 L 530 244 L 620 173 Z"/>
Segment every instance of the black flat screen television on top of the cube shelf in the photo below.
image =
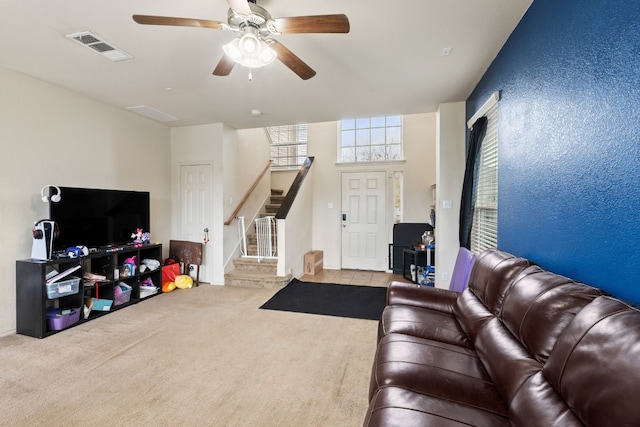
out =
<path fill-rule="evenodd" d="M 151 231 L 148 191 L 60 187 L 60 195 L 49 203 L 49 218 L 60 230 L 54 251 L 122 245 L 133 241 L 138 228 Z"/>

